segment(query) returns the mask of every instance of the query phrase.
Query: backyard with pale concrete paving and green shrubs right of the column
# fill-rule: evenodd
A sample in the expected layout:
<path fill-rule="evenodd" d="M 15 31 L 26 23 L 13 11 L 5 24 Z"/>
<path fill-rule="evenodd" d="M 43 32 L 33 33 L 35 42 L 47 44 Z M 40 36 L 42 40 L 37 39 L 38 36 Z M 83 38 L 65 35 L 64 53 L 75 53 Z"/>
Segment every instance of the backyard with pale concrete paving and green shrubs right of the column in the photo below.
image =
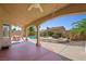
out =
<path fill-rule="evenodd" d="M 67 34 L 65 36 L 62 36 L 61 33 L 58 31 L 56 34 L 52 29 L 50 30 L 49 28 L 41 31 L 41 46 L 71 60 L 85 61 L 86 18 L 74 23 L 73 28 L 70 29 L 69 36 L 66 36 Z M 33 39 L 33 42 L 36 42 L 36 39 Z"/>

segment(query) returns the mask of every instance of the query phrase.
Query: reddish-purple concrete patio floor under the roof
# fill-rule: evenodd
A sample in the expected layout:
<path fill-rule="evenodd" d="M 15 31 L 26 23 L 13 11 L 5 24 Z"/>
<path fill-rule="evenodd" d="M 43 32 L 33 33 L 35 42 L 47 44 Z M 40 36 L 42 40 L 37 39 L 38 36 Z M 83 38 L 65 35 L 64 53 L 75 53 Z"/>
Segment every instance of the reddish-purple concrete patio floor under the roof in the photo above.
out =
<path fill-rule="evenodd" d="M 71 61 L 33 42 L 12 44 L 0 51 L 0 61 Z"/>

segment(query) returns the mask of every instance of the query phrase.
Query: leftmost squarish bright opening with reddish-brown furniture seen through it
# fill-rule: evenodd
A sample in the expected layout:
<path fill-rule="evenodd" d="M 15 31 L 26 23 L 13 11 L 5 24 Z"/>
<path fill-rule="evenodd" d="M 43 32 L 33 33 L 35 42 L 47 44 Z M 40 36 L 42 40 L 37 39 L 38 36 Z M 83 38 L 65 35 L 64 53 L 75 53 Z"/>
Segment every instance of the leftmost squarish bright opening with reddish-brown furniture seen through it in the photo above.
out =
<path fill-rule="evenodd" d="M 11 25 L 11 43 L 20 43 L 23 41 L 23 28 L 19 25 Z"/>

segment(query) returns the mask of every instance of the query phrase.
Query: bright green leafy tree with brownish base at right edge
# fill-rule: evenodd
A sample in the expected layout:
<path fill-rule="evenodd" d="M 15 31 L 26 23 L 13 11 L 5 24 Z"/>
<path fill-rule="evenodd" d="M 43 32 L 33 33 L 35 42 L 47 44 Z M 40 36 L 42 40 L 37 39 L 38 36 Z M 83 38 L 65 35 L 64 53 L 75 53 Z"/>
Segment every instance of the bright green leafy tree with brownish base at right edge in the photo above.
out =
<path fill-rule="evenodd" d="M 86 18 L 77 21 L 73 25 L 74 27 L 71 29 L 71 35 L 76 35 L 76 38 L 79 35 L 81 38 L 84 38 L 86 36 Z"/>

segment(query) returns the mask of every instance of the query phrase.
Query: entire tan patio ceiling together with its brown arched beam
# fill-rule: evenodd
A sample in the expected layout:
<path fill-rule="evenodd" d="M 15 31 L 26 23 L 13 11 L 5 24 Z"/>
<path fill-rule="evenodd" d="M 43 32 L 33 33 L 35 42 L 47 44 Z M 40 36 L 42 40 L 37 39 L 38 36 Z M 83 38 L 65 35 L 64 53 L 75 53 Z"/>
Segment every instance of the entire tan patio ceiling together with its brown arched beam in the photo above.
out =
<path fill-rule="evenodd" d="M 74 3 L 41 3 L 44 12 L 39 9 L 28 11 L 30 3 L 3 3 L 0 4 L 0 22 L 8 21 L 13 25 L 39 25 L 47 20 L 66 15 L 86 13 L 86 4 Z"/>

